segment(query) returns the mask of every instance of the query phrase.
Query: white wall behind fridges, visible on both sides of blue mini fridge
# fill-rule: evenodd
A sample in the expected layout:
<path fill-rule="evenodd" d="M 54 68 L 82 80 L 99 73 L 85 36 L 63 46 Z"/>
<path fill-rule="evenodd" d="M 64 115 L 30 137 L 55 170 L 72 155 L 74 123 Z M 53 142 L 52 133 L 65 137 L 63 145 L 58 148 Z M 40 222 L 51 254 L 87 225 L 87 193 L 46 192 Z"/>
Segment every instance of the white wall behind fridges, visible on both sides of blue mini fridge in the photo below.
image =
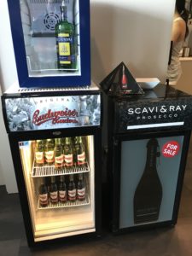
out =
<path fill-rule="evenodd" d="M 175 0 L 90 0 L 94 82 L 101 82 L 121 61 L 137 78 L 158 77 L 164 81 L 174 3 Z M 4 91 L 18 80 L 6 0 L 0 0 L 0 17 L 0 84 Z M 0 177 L 13 193 L 16 183 L 8 137 L 3 121 L 0 125 L 0 151 L 4 153 L 0 154 L 4 170 Z"/>

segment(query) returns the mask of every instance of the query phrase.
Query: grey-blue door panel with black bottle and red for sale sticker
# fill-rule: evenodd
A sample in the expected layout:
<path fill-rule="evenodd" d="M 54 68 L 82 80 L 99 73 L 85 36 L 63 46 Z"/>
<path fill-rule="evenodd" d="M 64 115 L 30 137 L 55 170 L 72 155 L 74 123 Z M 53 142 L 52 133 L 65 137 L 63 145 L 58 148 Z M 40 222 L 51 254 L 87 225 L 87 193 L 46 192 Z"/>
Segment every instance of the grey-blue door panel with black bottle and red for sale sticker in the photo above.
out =
<path fill-rule="evenodd" d="M 122 141 L 119 229 L 172 220 L 183 136 Z"/>

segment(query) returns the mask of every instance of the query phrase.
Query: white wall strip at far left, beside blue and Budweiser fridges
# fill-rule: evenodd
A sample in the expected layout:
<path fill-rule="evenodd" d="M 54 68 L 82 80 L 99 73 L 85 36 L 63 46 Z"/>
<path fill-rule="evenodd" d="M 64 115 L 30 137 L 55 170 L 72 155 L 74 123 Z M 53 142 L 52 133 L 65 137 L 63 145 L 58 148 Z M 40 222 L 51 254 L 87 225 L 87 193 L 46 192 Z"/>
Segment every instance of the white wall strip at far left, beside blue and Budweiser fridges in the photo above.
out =
<path fill-rule="evenodd" d="M 15 55 L 11 39 L 7 1 L 0 0 L 0 96 L 2 91 L 17 81 Z M 1 91 L 2 88 L 2 91 Z M 1 104 L 1 102 L 0 102 Z M 14 166 L 9 149 L 9 140 L 5 131 L 2 104 L 0 106 L 0 184 L 5 183 L 8 193 L 17 192 Z"/>

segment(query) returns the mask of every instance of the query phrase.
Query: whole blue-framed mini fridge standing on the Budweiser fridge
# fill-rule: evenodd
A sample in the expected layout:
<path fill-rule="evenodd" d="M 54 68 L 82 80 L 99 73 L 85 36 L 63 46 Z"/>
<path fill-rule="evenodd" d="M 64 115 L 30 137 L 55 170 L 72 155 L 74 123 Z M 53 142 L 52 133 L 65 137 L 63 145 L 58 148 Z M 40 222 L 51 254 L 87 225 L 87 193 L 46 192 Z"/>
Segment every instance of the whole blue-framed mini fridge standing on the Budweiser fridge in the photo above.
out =
<path fill-rule="evenodd" d="M 90 85 L 89 0 L 9 0 L 20 87 Z"/>

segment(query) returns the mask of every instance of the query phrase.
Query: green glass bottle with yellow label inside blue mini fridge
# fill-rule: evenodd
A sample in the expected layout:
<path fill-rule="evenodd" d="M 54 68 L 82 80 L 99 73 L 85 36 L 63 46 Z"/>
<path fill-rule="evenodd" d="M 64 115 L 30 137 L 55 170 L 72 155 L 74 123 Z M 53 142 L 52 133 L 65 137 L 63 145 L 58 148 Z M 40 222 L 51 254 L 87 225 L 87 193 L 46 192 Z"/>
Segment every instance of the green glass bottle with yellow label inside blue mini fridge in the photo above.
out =
<path fill-rule="evenodd" d="M 76 68 L 74 26 L 67 21 L 67 6 L 61 2 L 61 20 L 55 25 L 57 63 L 59 69 L 73 71 Z"/>

